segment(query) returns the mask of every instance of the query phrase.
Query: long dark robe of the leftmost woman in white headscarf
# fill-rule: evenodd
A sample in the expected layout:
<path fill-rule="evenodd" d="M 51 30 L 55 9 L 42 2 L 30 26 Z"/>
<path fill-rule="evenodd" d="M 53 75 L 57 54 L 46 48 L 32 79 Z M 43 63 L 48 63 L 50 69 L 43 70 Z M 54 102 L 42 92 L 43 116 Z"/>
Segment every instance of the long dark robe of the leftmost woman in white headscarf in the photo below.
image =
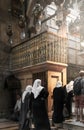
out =
<path fill-rule="evenodd" d="M 31 94 L 27 93 L 24 99 L 24 103 L 21 104 L 20 112 L 20 127 L 19 130 L 29 130 L 30 129 L 30 116 L 32 112 L 32 98 Z"/>

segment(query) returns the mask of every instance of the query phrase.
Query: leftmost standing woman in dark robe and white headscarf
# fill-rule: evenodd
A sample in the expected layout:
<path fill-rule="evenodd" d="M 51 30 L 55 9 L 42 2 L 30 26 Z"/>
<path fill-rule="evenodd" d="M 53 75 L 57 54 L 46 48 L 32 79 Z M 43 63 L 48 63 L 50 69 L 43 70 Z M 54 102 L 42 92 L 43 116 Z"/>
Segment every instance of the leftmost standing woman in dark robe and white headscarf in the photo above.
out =
<path fill-rule="evenodd" d="M 29 129 L 29 116 L 32 110 L 32 98 L 31 98 L 32 86 L 28 85 L 22 94 L 22 105 L 20 112 L 20 130 Z"/>

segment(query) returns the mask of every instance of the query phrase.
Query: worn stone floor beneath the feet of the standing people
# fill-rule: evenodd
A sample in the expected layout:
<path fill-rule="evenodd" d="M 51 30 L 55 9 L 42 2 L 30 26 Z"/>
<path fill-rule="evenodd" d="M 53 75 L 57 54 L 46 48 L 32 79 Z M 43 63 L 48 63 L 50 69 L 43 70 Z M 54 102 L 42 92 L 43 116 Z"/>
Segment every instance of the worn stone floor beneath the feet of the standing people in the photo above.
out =
<path fill-rule="evenodd" d="M 51 121 L 50 121 L 51 122 Z M 0 119 L 0 130 L 19 130 L 19 124 L 7 119 Z M 31 130 L 34 129 L 32 125 Z M 84 130 L 84 123 L 75 121 L 75 118 L 65 120 L 63 123 L 63 128 L 56 129 L 54 126 L 51 126 L 51 130 Z"/>

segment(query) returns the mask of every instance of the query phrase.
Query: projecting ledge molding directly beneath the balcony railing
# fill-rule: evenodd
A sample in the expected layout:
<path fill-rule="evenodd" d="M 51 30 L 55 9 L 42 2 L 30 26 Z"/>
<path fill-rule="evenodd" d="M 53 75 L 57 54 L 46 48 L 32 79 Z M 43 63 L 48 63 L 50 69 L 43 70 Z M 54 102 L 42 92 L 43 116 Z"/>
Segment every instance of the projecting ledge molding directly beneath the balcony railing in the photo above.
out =
<path fill-rule="evenodd" d="M 28 71 L 31 73 L 37 73 L 37 72 L 48 71 L 48 70 L 60 72 L 67 66 L 68 66 L 67 64 L 46 61 L 43 63 L 39 63 L 37 65 L 31 65 L 31 66 L 26 66 L 26 67 L 19 68 L 19 69 L 13 69 L 12 72 L 22 73 L 22 72 Z"/>

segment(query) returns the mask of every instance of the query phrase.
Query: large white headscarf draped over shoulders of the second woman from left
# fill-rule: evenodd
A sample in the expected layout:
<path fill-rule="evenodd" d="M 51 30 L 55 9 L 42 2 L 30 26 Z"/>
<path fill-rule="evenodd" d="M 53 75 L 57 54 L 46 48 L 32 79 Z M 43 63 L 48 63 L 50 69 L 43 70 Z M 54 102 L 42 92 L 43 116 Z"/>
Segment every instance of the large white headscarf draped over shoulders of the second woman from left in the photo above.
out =
<path fill-rule="evenodd" d="M 33 84 L 32 93 L 34 94 L 34 98 L 37 98 L 39 93 L 44 87 L 41 86 L 41 80 L 36 79 Z"/>

